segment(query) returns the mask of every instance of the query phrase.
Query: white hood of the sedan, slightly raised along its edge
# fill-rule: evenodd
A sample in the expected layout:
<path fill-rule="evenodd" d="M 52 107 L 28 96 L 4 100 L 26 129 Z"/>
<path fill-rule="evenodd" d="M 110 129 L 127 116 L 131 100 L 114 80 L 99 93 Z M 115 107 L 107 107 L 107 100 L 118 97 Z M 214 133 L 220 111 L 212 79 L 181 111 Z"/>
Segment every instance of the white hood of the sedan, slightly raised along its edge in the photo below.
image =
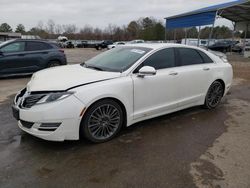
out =
<path fill-rule="evenodd" d="M 29 92 L 64 91 L 81 85 L 118 78 L 121 73 L 97 71 L 81 65 L 49 68 L 33 74 L 27 85 Z"/>

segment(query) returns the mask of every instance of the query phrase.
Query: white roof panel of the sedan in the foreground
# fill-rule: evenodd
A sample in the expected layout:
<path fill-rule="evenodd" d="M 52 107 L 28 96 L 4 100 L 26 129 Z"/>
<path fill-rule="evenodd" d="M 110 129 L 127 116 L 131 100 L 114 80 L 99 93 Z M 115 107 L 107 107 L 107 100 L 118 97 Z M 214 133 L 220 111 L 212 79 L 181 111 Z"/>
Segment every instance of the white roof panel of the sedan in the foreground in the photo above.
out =
<path fill-rule="evenodd" d="M 161 48 L 170 48 L 170 47 L 201 49 L 201 48 L 198 48 L 195 46 L 188 46 L 188 45 L 184 45 L 184 44 L 175 44 L 175 43 L 139 43 L 139 44 L 126 44 L 125 46 L 151 48 L 153 50 L 158 50 Z"/>

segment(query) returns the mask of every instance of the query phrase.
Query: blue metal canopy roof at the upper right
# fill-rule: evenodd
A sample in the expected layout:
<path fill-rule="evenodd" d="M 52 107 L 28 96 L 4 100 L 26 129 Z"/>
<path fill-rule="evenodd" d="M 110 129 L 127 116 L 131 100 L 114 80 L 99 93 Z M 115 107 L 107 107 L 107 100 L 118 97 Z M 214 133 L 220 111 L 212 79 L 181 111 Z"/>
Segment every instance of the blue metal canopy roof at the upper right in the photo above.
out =
<path fill-rule="evenodd" d="M 167 29 L 211 25 L 215 22 L 217 13 L 234 22 L 250 22 L 250 1 L 235 0 L 214 5 L 188 13 L 172 16 L 166 19 Z"/>

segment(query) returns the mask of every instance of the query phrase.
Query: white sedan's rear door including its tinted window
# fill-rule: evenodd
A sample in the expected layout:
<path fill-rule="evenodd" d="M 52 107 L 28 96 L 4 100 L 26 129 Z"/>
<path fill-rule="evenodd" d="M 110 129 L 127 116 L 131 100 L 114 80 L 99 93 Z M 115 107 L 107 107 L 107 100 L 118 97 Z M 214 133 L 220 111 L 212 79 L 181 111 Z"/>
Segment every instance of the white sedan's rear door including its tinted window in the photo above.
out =
<path fill-rule="evenodd" d="M 214 62 L 204 52 L 192 48 L 176 48 L 179 67 L 176 84 L 179 106 L 202 103 L 213 79 Z"/>

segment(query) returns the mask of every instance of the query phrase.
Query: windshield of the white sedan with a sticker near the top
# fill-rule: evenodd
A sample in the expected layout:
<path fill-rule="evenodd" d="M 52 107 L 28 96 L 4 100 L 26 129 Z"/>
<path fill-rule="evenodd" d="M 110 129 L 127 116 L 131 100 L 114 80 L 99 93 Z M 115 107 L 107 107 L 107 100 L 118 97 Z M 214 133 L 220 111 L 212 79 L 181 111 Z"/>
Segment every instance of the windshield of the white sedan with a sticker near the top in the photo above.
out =
<path fill-rule="evenodd" d="M 123 72 L 150 50 L 142 47 L 117 47 L 86 61 L 82 66 L 100 71 Z"/>

